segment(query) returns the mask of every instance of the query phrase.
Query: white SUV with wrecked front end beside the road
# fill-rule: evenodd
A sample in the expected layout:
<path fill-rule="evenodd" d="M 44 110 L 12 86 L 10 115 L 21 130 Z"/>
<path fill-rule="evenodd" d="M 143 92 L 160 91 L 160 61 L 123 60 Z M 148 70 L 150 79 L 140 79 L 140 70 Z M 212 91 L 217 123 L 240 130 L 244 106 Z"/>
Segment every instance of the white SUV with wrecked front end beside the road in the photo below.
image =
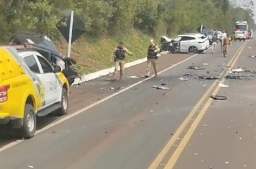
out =
<path fill-rule="evenodd" d="M 173 43 L 181 53 L 202 53 L 210 47 L 208 38 L 202 34 L 178 35 L 172 39 Z"/>

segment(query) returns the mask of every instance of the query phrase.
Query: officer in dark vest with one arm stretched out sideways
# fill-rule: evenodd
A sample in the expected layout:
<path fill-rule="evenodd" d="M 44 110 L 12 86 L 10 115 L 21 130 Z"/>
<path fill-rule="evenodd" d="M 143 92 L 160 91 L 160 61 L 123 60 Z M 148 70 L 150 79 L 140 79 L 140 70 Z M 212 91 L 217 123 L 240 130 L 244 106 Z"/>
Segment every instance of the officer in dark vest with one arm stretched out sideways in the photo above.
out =
<path fill-rule="evenodd" d="M 118 73 L 118 67 L 120 67 L 120 81 L 123 77 L 124 72 L 124 59 L 126 58 L 126 54 L 133 55 L 126 47 L 124 47 L 124 43 L 120 42 L 119 46 L 114 49 L 113 56 L 115 62 L 115 71 L 114 71 L 114 81 L 116 80 L 116 76 Z"/>

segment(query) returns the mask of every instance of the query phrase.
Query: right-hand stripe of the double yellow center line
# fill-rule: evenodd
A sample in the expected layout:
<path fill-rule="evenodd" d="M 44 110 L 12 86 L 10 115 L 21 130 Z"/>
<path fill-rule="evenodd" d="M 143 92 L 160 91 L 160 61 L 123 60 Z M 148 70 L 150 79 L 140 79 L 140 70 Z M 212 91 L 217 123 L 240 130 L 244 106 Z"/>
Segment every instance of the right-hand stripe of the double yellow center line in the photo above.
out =
<path fill-rule="evenodd" d="M 229 67 L 229 69 L 226 72 L 226 75 L 228 74 L 228 72 L 232 69 L 232 67 L 234 67 L 236 61 L 239 59 L 239 56 L 243 50 L 243 48 L 245 48 L 247 43 L 245 43 L 245 45 L 243 45 L 243 47 L 241 48 L 241 50 L 238 50 L 239 53 L 238 55 L 236 55 L 234 57 L 234 60 L 231 62 L 231 66 Z M 223 83 L 225 81 L 225 78 L 223 77 L 221 80 L 221 83 Z M 216 95 L 218 93 L 218 90 L 220 89 L 219 86 L 217 86 L 213 92 L 213 95 Z M 183 140 L 180 142 L 179 146 L 177 147 L 177 149 L 174 151 L 174 153 L 172 154 L 172 157 L 170 158 L 170 160 L 168 160 L 168 163 L 166 164 L 166 166 L 164 167 L 164 169 L 172 169 L 174 167 L 174 165 L 177 163 L 178 158 L 180 157 L 180 154 L 182 154 L 184 148 L 186 147 L 186 144 L 188 144 L 192 134 L 195 132 L 197 126 L 199 125 L 199 122 L 203 119 L 204 114 L 207 112 L 208 108 L 211 105 L 211 102 L 213 102 L 213 99 L 208 99 L 207 102 L 205 103 L 204 107 L 202 108 L 202 110 L 199 112 L 197 118 L 195 119 L 195 121 L 193 122 L 193 124 L 190 126 L 188 132 L 185 134 Z"/>

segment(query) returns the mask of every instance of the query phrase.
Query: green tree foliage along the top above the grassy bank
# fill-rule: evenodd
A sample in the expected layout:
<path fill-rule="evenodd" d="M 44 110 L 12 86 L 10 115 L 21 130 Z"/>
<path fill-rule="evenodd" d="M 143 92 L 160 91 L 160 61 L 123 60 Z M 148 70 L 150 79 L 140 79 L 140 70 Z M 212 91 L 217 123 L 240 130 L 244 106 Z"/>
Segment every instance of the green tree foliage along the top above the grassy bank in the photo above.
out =
<path fill-rule="evenodd" d="M 252 11 L 233 8 L 228 0 L 0 0 L 0 40 L 18 30 L 58 36 L 55 24 L 73 9 L 92 36 L 123 35 L 132 29 L 160 34 L 195 31 L 198 25 L 232 31 Z"/>

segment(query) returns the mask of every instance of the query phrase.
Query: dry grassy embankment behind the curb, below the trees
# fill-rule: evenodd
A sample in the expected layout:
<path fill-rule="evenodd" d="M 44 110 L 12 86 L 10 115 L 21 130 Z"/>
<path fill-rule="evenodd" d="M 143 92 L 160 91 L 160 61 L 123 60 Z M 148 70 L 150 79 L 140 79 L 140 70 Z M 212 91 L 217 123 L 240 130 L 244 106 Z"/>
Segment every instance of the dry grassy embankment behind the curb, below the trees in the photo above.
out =
<path fill-rule="evenodd" d="M 126 62 L 146 57 L 149 40 L 152 37 L 133 30 L 122 38 L 105 36 L 101 38 L 83 37 L 72 46 L 71 57 L 77 61 L 80 75 L 114 66 L 113 50 L 123 41 L 134 56 L 127 56 Z M 57 43 L 61 54 L 67 53 L 67 43 Z"/>

